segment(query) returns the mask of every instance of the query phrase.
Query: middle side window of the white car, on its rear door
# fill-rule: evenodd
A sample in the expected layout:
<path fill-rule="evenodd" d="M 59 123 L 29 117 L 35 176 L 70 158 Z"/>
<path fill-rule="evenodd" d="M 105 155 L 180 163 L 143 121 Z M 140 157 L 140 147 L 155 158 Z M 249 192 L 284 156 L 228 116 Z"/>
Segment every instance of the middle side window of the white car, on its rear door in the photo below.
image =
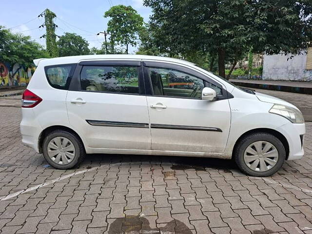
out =
<path fill-rule="evenodd" d="M 135 66 L 84 66 L 80 73 L 81 90 L 138 94 Z"/>

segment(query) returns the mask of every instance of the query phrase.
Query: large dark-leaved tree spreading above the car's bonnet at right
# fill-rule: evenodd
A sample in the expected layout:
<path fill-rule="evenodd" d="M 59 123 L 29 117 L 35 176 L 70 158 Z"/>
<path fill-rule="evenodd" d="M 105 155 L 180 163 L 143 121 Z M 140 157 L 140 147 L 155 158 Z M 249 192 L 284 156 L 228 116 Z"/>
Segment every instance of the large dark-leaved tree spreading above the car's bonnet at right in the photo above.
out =
<path fill-rule="evenodd" d="M 312 40 L 311 0 L 144 0 L 153 10 L 150 27 L 161 51 L 189 51 L 233 64 L 255 53 L 301 53 Z"/>

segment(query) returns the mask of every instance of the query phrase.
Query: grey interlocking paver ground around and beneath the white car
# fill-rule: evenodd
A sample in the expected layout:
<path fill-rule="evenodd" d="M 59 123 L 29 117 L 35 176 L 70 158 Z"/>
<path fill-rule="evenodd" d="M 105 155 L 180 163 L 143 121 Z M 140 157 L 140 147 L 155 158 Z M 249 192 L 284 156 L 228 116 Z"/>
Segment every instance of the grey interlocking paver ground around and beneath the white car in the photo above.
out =
<path fill-rule="evenodd" d="M 312 122 L 302 159 L 252 177 L 231 160 L 170 156 L 88 155 L 57 170 L 22 145 L 20 108 L 0 107 L 0 120 L 0 233 L 312 233 Z"/>

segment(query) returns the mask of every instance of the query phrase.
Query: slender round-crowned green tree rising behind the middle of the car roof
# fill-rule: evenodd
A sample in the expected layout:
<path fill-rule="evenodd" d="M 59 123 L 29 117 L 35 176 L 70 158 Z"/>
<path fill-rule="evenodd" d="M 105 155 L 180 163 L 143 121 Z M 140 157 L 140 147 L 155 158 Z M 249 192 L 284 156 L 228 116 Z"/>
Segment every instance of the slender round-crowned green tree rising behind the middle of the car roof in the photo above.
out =
<path fill-rule="evenodd" d="M 111 41 L 126 45 L 137 45 L 137 35 L 142 28 L 143 18 L 131 6 L 116 5 L 105 12 L 104 17 L 111 19 L 107 23 L 107 32 Z"/>

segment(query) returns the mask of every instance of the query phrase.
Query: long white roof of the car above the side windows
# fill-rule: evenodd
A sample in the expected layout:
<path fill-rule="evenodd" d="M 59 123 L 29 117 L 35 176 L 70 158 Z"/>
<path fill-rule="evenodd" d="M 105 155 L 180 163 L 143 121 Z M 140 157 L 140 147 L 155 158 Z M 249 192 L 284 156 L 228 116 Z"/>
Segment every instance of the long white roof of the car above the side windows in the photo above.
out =
<path fill-rule="evenodd" d="M 156 61 L 167 61 L 176 62 L 185 65 L 194 65 L 192 62 L 188 62 L 182 59 L 174 59 L 169 57 L 160 56 L 149 56 L 149 55 L 80 55 L 80 56 L 68 56 L 58 57 L 52 59 L 34 59 L 36 66 L 42 64 L 44 66 L 57 65 L 57 64 L 69 64 L 78 63 L 82 60 L 98 60 L 98 59 L 139 59 L 139 60 L 156 60 Z"/>

